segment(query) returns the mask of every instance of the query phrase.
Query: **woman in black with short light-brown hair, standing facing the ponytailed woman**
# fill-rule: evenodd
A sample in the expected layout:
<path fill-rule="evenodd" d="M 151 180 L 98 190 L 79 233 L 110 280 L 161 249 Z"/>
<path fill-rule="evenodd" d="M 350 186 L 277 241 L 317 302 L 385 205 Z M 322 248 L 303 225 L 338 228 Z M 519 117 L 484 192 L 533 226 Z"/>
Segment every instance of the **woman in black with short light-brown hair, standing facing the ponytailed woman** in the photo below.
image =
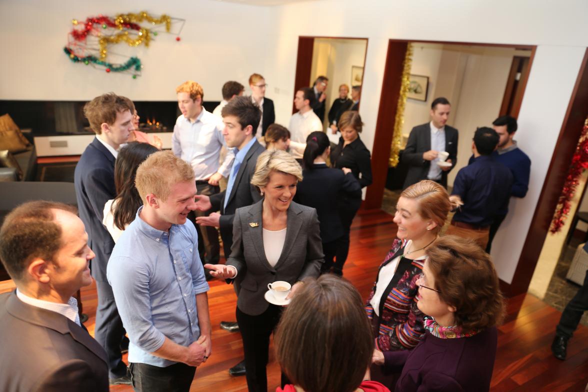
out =
<path fill-rule="evenodd" d="M 362 118 L 358 112 L 348 111 L 339 118 L 339 130 L 341 138 L 339 144 L 333 149 L 330 155 L 331 165 L 337 169 L 350 169 L 363 188 L 372 183 L 372 161 L 369 150 L 359 138 L 362 132 Z M 339 198 L 339 216 L 343 224 L 343 237 L 337 250 L 337 261 L 333 272 L 342 275 L 343 264 L 349 253 L 349 231 L 355 214 L 362 205 L 361 194 L 346 195 Z"/>

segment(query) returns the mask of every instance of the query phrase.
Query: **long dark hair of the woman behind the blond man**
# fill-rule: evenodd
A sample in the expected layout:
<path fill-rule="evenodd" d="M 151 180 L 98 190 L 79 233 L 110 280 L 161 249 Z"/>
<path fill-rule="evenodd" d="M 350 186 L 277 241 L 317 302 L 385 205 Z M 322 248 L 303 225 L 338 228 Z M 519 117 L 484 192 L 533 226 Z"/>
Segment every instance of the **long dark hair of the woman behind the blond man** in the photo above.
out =
<path fill-rule="evenodd" d="M 124 230 L 135 219 L 143 204 L 135 188 L 137 169 L 149 155 L 159 151 L 149 143 L 130 142 L 121 148 L 114 165 L 114 182 L 117 202 L 113 205 L 115 226 Z"/>

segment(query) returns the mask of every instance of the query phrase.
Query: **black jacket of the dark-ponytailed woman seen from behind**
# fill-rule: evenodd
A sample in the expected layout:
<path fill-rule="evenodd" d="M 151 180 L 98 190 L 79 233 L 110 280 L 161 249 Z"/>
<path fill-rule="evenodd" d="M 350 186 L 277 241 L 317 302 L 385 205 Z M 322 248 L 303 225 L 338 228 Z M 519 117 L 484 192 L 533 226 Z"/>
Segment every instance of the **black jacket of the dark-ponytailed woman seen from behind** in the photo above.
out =
<path fill-rule="evenodd" d="M 294 200 L 316 209 L 320 222 L 320 238 L 323 243 L 332 242 L 343 235 L 337 200 L 349 195 L 353 199 L 362 197 L 362 188 L 353 173 L 331 169 L 327 165 L 313 165 L 305 169 L 303 180 L 298 184 Z"/>

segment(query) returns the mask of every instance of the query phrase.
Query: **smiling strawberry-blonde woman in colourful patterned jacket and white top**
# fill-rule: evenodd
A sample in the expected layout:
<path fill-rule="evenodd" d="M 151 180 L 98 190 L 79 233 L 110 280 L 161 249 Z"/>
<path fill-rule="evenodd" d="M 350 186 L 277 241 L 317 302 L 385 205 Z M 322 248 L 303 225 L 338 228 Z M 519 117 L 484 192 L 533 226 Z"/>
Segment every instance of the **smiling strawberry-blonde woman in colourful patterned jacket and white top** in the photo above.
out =
<path fill-rule="evenodd" d="M 438 238 L 452 203 L 444 187 L 423 180 L 407 187 L 396 204 L 396 240 L 380 265 L 366 311 L 372 321 L 376 350 L 411 350 L 425 334 L 423 313 L 417 307 L 417 277 L 425 252 Z M 372 366 L 372 379 L 390 389 L 397 374 Z"/>

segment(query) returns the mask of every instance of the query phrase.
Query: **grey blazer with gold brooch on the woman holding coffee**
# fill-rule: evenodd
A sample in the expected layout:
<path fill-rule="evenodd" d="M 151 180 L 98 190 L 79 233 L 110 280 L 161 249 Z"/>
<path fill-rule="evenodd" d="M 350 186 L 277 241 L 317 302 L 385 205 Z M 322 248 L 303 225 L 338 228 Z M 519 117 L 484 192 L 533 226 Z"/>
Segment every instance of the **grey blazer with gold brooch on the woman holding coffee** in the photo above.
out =
<path fill-rule="evenodd" d="M 263 200 L 237 209 L 233 225 L 233 247 L 227 265 L 237 269 L 240 292 L 237 307 L 250 316 L 268 309 L 263 298 L 268 284 L 283 280 L 294 284 L 305 277 L 318 277 L 325 262 L 316 210 L 290 203 L 286 240 L 275 267 L 265 258 L 263 247 Z M 258 223 L 257 226 L 250 223 Z"/>

